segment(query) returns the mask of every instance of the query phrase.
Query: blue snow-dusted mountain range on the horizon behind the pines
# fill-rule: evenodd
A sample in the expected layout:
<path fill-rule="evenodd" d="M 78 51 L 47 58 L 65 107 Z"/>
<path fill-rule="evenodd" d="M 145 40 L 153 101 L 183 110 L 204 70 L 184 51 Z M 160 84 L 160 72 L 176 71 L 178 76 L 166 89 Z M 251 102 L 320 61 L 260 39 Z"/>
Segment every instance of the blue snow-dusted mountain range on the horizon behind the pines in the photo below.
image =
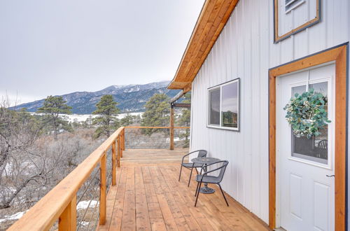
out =
<path fill-rule="evenodd" d="M 132 85 L 111 85 L 97 92 L 73 92 L 60 95 L 66 101 L 74 114 L 91 114 L 96 110 L 96 104 L 104 94 L 112 94 L 118 108 L 122 113 L 145 111 L 144 104 L 153 94 L 165 93 L 169 97 L 174 97 L 179 90 L 169 90 L 167 85 L 169 81 L 155 83 L 132 84 Z M 30 103 L 20 104 L 13 107 L 15 110 L 26 108 L 27 111 L 36 112 L 43 106 L 45 99 L 37 100 Z"/>

